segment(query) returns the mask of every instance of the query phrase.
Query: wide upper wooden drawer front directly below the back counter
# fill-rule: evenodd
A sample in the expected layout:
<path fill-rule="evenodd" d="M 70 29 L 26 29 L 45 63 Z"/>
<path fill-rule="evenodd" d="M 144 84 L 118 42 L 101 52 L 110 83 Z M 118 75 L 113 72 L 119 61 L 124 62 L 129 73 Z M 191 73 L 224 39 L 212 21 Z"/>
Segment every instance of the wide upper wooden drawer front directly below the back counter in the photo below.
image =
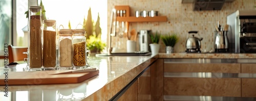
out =
<path fill-rule="evenodd" d="M 164 72 L 240 73 L 240 67 L 240 63 L 164 63 Z"/>

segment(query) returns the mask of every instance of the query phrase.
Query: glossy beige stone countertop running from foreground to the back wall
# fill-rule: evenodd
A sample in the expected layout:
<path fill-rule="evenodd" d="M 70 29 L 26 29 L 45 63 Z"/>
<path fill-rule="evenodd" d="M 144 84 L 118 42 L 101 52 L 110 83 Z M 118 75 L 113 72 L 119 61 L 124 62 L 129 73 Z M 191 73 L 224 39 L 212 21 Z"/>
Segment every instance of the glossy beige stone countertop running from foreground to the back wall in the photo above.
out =
<path fill-rule="evenodd" d="M 80 97 L 83 100 L 109 100 L 122 88 L 129 84 L 145 68 L 157 58 L 227 58 L 227 59 L 255 59 L 256 54 L 238 53 L 159 53 L 153 56 L 91 56 L 88 60 L 93 68 L 100 70 L 99 75 L 89 80 L 75 84 L 50 85 L 20 85 L 8 86 L 11 100 L 59 100 L 60 98 Z M 17 65 L 17 71 L 22 71 L 26 65 Z M 0 69 L 3 75 L 3 68 Z M 1 98 L 4 96 L 5 86 L 0 86 Z M 83 95 L 84 94 L 84 95 Z M 63 96 L 64 95 L 64 96 Z M 84 97 L 85 96 L 85 97 Z M 7 100 L 10 100 L 7 98 Z"/>

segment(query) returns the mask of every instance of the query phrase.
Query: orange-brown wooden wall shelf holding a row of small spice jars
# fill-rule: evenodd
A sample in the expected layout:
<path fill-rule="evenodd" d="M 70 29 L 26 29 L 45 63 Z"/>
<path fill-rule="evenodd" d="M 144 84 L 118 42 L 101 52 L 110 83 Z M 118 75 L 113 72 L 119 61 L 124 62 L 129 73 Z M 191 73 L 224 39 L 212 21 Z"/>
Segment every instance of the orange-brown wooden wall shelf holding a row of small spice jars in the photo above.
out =
<path fill-rule="evenodd" d="M 155 16 L 155 17 L 117 17 L 117 21 L 127 22 L 160 22 L 167 21 L 166 16 Z"/>

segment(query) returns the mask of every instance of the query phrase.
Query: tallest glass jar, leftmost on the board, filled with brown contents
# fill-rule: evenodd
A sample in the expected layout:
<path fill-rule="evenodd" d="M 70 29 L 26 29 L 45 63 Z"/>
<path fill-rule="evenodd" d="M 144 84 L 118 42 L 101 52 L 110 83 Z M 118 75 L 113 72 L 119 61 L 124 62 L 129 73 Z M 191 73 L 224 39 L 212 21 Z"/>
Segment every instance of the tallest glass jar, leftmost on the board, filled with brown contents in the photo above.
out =
<path fill-rule="evenodd" d="M 40 70 L 42 67 L 41 25 L 41 7 L 30 6 L 28 22 L 28 64 L 30 70 Z"/>

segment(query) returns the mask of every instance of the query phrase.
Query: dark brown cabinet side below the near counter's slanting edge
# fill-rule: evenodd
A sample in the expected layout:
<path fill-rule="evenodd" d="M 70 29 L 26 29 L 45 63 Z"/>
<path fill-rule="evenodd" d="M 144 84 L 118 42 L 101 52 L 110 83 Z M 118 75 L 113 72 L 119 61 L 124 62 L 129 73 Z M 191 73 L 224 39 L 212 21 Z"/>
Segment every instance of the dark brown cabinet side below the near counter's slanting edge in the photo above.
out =
<path fill-rule="evenodd" d="M 157 59 L 116 96 L 118 100 L 163 100 L 163 59 Z M 115 100 L 115 98 L 114 98 Z"/>

